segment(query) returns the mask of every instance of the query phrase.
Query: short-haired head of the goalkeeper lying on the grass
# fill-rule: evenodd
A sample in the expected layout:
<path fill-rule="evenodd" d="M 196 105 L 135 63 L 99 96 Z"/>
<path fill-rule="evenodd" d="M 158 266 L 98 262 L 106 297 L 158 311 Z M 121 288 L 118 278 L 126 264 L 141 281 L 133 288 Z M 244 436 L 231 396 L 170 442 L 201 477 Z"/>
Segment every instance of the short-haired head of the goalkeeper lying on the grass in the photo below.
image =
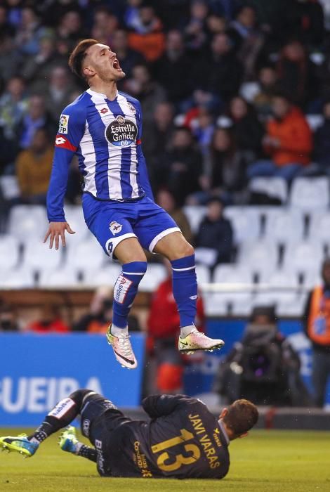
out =
<path fill-rule="evenodd" d="M 258 408 L 249 400 L 236 400 L 228 408 L 223 422 L 235 436 L 244 434 L 258 422 Z"/>

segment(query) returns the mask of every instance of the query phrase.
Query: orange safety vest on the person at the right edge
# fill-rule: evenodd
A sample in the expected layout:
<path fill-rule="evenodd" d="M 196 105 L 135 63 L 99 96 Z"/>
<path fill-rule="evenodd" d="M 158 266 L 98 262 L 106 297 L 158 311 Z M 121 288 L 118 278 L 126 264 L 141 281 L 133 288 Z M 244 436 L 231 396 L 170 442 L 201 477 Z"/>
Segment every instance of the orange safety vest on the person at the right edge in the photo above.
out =
<path fill-rule="evenodd" d="M 319 345 L 330 345 L 330 299 L 324 297 L 322 285 L 312 292 L 308 336 Z"/>

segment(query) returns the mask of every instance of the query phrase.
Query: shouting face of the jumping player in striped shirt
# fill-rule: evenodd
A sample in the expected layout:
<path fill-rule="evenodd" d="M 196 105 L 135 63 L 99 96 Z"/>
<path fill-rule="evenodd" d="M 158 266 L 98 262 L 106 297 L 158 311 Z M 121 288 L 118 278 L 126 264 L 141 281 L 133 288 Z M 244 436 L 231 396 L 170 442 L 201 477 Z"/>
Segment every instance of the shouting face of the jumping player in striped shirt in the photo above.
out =
<path fill-rule="evenodd" d="M 84 69 L 91 70 L 91 75 L 98 75 L 105 82 L 122 79 L 125 72 L 121 70 L 116 53 L 106 44 L 93 44 L 86 51 Z"/>

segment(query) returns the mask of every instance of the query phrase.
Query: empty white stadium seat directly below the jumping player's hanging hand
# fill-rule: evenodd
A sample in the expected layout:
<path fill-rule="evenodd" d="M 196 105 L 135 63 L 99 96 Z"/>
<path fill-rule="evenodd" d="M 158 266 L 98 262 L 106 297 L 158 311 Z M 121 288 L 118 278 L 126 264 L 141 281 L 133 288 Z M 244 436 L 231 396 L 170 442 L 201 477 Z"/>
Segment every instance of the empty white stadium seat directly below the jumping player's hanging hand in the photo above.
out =
<path fill-rule="evenodd" d="M 63 250 L 51 250 L 48 244 L 41 240 L 30 238 L 24 243 L 23 266 L 33 271 L 55 270 L 62 263 Z"/>

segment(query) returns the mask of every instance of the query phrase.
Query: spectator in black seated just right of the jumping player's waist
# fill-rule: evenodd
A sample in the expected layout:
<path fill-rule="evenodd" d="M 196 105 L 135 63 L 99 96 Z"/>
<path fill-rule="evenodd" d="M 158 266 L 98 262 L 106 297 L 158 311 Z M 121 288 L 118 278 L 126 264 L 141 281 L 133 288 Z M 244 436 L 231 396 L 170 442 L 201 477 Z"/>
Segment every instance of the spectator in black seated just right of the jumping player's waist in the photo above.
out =
<path fill-rule="evenodd" d="M 179 206 L 185 203 L 188 195 L 200 190 L 202 154 L 190 129 L 176 129 L 171 150 L 164 154 L 159 165 L 159 182 L 173 193 Z"/>

